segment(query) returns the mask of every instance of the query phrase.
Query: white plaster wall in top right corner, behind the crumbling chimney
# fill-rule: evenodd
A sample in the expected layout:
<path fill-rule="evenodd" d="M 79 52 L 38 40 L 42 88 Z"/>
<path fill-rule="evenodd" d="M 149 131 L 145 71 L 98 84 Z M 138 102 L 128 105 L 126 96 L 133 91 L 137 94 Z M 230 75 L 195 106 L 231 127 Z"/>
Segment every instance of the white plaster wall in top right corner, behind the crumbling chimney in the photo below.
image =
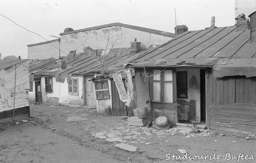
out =
<path fill-rule="evenodd" d="M 236 0 L 235 1 L 235 17 L 239 14 L 244 13 L 246 18 L 248 15 L 256 11 L 256 1 L 255 0 Z"/>

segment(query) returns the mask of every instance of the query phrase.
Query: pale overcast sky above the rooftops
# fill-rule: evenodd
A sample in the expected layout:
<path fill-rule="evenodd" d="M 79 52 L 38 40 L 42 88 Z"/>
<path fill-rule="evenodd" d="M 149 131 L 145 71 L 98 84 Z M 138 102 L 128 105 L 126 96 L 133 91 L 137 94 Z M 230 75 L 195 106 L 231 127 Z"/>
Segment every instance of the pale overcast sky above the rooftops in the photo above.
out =
<path fill-rule="evenodd" d="M 235 24 L 235 0 L 0 0 L 0 53 L 27 58 L 27 45 L 114 22 L 175 33 L 177 25 L 202 30 Z M 43 38 L 38 36 L 41 35 Z"/>

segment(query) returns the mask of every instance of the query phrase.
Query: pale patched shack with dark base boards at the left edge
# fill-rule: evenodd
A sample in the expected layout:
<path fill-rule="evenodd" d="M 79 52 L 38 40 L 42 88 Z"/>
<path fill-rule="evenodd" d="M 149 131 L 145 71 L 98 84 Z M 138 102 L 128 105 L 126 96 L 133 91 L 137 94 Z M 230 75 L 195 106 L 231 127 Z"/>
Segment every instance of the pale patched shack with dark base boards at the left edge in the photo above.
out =
<path fill-rule="evenodd" d="M 0 62 L 0 122 L 30 117 L 29 62 L 28 59 Z"/>

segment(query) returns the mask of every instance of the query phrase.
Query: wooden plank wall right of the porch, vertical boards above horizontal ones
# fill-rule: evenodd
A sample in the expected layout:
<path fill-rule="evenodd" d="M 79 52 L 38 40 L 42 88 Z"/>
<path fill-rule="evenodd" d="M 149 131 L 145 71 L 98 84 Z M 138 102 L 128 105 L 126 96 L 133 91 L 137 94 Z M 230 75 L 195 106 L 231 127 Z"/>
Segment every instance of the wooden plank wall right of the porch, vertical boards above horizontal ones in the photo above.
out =
<path fill-rule="evenodd" d="M 238 103 L 250 101 L 246 91 L 249 90 L 246 88 L 250 80 L 237 79 L 233 76 L 214 78 L 212 73 L 209 75 L 207 114 L 210 115 L 210 128 L 256 133 L 256 106 Z M 255 85 L 252 84 L 250 87 L 256 90 Z"/>

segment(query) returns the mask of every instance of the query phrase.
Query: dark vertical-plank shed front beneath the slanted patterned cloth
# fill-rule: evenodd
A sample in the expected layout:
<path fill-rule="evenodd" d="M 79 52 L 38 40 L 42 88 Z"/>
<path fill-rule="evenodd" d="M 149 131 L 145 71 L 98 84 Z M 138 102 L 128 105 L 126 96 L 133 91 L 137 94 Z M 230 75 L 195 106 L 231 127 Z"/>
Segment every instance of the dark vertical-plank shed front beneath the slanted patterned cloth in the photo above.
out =
<path fill-rule="evenodd" d="M 111 90 L 113 116 L 127 116 L 126 102 L 120 100 L 116 84 L 113 80 L 111 80 Z"/>

